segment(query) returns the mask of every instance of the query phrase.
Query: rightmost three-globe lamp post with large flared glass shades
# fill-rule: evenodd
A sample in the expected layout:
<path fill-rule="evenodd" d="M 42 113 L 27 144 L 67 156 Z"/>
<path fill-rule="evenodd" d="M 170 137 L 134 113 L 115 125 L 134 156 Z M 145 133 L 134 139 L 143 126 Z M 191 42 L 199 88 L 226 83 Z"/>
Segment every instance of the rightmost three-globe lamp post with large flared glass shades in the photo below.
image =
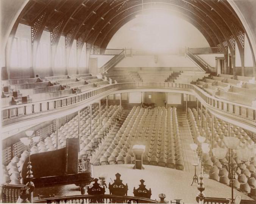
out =
<path fill-rule="evenodd" d="M 224 143 L 227 148 L 213 148 L 212 153 L 217 159 L 224 159 L 226 155 L 228 156 L 228 162 L 222 162 L 225 168 L 228 170 L 228 177 L 230 179 L 229 186 L 231 187 L 231 204 L 234 203 L 234 171 L 237 169 L 238 165 L 244 164 L 250 159 L 250 150 L 249 149 L 237 149 L 240 143 L 240 140 L 236 137 L 224 137 Z M 237 157 L 242 161 L 242 163 L 234 164 L 233 163 L 233 151 L 236 149 Z M 228 154 L 227 154 L 228 153 Z"/>

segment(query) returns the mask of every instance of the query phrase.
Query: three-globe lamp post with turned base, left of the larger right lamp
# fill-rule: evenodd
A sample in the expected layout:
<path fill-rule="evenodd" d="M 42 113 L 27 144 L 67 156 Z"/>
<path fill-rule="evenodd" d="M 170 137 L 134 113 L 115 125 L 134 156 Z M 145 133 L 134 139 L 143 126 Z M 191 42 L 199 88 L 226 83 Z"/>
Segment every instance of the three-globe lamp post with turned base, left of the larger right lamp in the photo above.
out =
<path fill-rule="evenodd" d="M 205 198 L 204 196 L 204 185 L 203 185 L 203 161 L 202 161 L 202 153 L 209 153 L 210 151 L 210 148 L 209 148 L 209 144 L 208 143 L 204 143 L 204 141 L 206 140 L 206 137 L 202 137 L 202 136 L 198 136 L 197 137 L 197 140 L 198 142 L 200 143 L 200 146 L 198 148 L 198 145 L 195 144 L 195 143 L 192 143 L 190 144 L 190 148 L 193 150 L 193 151 L 198 151 L 198 154 L 199 154 L 199 162 L 200 162 L 200 176 L 199 176 L 199 179 L 200 179 L 200 182 L 199 182 L 199 185 L 197 187 L 197 189 L 199 190 L 199 193 L 196 197 L 196 200 L 198 203 L 203 203 L 203 200 Z"/>

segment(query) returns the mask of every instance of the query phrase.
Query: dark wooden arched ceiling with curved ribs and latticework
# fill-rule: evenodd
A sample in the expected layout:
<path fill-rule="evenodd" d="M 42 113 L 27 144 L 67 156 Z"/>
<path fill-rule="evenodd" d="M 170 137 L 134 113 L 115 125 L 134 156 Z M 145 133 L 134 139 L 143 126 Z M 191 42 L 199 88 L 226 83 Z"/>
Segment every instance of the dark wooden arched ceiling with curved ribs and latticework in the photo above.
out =
<path fill-rule="evenodd" d="M 234 54 L 244 48 L 244 27 L 226 0 L 30 0 L 17 23 L 30 25 L 32 41 L 51 32 L 51 45 L 65 36 L 66 47 L 105 48 L 119 28 L 137 14 L 164 9 L 194 25 L 211 47 Z M 15 27 L 15 26 L 14 26 Z"/>

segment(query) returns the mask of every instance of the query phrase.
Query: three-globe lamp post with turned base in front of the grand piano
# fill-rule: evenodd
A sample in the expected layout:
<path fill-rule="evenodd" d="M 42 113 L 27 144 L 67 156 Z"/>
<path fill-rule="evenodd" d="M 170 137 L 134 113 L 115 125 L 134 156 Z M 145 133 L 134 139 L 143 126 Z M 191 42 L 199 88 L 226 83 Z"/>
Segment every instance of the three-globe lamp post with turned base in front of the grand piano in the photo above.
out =
<path fill-rule="evenodd" d="M 20 138 L 20 142 L 22 142 L 23 145 L 28 146 L 28 167 L 27 167 L 28 171 L 27 171 L 27 177 L 26 177 L 28 179 L 28 182 L 26 184 L 26 188 L 27 188 L 27 193 L 30 193 L 30 202 L 32 202 L 34 183 L 32 182 L 33 171 L 31 171 L 32 166 L 30 162 L 30 143 L 31 143 L 31 140 L 33 140 L 33 142 L 39 142 L 39 136 L 32 137 L 34 131 L 26 131 L 25 133 L 28 137 Z"/>

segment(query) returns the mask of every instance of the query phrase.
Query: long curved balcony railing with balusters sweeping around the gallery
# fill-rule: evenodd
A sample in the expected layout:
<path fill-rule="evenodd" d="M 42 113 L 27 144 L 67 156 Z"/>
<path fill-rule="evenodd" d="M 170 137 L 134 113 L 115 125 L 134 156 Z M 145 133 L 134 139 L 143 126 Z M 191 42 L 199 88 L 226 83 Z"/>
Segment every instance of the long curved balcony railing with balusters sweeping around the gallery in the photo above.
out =
<path fill-rule="evenodd" d="M 20 118 L 20 120 L 23 120 L 23 116 L 26 115 L 36 115 L 41 114 L 42 112 L 50 112 L 53 110 L 61 109 L 63 107 L 65 108 L 67 106 L 77 106 L 77 103 L 82 103 L 83 101 L 103 94 L 107 91 L 136 88 L 181 89 L 182 91 L 190 92 L 189 94 L 194 95 L 198 98 L 198 100 L 204 101 L 206 104 L 208 104 L 210 107 L 213 107 L 214 109 L 255 122 L 256 107 L 251 107 L 212 97 L 194 84 L 167 82 L 135 82 L 110 84 L 104 87 L 98 87 L 93 90 L 82 92 L 80 94 L 73 94 L 68 97 L 4 107 L 2 108 L 2 125 L 4 127 L 5 125 L 12 124 L 11 120 L 16 118 Z M 15 121 L 17 122 L 17 120 Z"/>

